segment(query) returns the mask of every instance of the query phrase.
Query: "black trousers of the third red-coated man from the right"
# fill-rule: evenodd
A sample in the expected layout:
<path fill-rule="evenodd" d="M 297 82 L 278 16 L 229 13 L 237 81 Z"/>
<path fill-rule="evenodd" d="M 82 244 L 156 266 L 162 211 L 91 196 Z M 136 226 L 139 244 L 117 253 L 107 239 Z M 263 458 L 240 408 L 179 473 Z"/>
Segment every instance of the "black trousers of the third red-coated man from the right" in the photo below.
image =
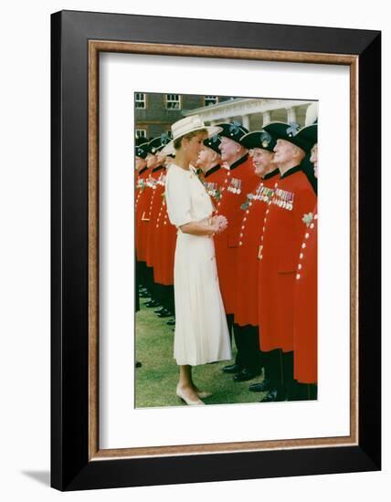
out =
<path fill-rule="evenodd" d="M 238 350 L 236 364 L 249 371 L 260 371 L 263 361 L 259 350 L 258 326 L 239 326 L 234 323 L 234 338 Z"/>

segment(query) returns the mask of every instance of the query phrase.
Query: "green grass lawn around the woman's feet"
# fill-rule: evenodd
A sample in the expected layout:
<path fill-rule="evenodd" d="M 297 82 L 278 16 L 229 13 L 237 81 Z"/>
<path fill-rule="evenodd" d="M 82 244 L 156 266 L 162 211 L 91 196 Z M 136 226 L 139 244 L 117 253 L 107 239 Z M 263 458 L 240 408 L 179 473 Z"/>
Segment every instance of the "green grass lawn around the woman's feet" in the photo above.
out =
<path fill-rule="evenodd" d="M 168 318 L 170 319 L 170 318 Z M 178 366 L 174 361 L 174 331 L 141 301 L 136 314 L 136 361 L 142 363 L 135 370 L 136 408 L 185 405 L 175 395 Z M 231 361 L 232 363 L 233 361 Z M 213 392 L 206 404 L 258 403 L 264 394 L 248 392 L 248 385 L 260 382 L 233 382 L 221 368 L 228 361 L 204 364 L 193 368 L 194 382 L 202 391 Z"/>

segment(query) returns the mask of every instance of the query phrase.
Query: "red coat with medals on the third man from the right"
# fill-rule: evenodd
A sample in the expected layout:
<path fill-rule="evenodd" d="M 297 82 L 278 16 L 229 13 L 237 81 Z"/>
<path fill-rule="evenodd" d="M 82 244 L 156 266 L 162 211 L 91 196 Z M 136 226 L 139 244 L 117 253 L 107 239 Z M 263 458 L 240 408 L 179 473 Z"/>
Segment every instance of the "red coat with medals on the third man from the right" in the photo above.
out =
<path fill-rule="evenodd" d="M 237 304 L 235 322 L 239 326 L 258 326 L 258 267 L 259 238 L 268 202 L 273 194 L 279 170 L 260 180 L 258 187 L 242 204 L 237 261 Z"/>

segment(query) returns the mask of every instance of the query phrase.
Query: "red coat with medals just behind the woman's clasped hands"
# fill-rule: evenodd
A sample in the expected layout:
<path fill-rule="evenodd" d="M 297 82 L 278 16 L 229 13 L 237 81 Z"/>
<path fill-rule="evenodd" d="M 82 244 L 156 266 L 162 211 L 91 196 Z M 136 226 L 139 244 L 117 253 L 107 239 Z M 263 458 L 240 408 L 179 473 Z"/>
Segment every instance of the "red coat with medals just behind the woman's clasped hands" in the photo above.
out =
<path fill-rule="evenodd" d="M 216 214 L 227 217 L 228 228 L 215 236 L 217 272 L 221 296 L 226 314 L 233 314 L 236 306 L 238 234 L 242 211 L 240 205 L 259 183 L 254 166 L 248 155 L 230 166 L 226 173 Z"/>

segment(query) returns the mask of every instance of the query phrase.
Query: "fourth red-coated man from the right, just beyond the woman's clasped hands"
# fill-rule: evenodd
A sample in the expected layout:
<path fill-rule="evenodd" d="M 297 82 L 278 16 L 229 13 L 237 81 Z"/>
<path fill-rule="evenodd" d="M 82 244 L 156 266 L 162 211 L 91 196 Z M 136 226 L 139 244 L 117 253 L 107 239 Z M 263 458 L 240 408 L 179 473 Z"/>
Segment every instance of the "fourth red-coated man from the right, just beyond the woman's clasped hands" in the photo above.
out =
<path fill-rule="evenodd" d="M 218 124 L 222 128 L 219 132 L 222 162 L 227 163 L 227 170 L 221 193 L 216 204 L 216 214 L 227 217 L 227 232 L 215 236 L 218 279 L 221 296 L 227 315 L 229 331 L 233 327 L 234 311 L 237 295 L 236 264 L 238 259 L 239 229 L 242 217 L 240 205 L 244 204 L 247 194 L 251 193 L 259 183 L 254 173 L 254 166 L 248 156 L 248 148 L 241 142 L 248 130 L 238 122 Z M 236 339 L 236 332 L 234 330 Z M 238 343 L 237 343 L 238 349 Z M 240 361 L 238 352 L 235 364 L 225 366 L 224 372 L 237 373 L 244 368 L 244 361 Z"/>

